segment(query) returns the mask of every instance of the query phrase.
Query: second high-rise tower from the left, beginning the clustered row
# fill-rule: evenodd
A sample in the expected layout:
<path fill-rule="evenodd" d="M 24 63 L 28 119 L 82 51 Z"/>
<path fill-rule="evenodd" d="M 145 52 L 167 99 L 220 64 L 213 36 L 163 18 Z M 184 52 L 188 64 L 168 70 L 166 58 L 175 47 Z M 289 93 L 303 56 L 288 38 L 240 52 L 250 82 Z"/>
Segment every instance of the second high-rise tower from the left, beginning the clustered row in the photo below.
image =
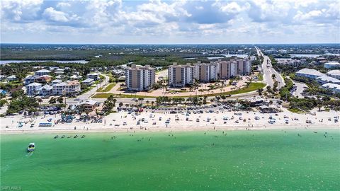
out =
<path fill-rule="evenodd" d="M 169 66 L 168 69 L 169 86 L 184 87 L 187 84 L 192 84 L 195 79 L 195 66 L 190 63 L 186 65 L 177 65 L 176 62 Z"/>

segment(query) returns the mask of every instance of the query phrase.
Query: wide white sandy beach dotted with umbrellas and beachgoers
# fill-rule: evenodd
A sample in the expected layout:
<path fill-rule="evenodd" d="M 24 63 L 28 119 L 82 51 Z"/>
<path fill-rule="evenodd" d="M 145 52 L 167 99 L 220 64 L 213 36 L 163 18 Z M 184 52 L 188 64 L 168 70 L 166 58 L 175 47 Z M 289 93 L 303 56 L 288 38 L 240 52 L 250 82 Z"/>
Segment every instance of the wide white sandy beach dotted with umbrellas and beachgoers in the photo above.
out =
<path fill-rule="evenodd" d="M 312 113 L 315 113 L 313 115 Z M 60 115 L 46 115 L 34 119 L 16 115 L 1 118 L 0 134 L 30 133 L 86 133 L 86 132 L 170 132 L 170 131 L 205 131 L 205 130 L 257 130 L 257 129 L 340 129 L 340 112 L 318 112 L 296 114 L 283 109 L 278 114 L 260 112 L 203 112 L 187 114 L 186 112 L 169 114 L 169 112 L 115 112 L 103 118 L 102 122 L 83 122 L 76 116 L 70 123 L 58 123 Z M 270 118 L 275 122 L 270 122 Z M 39 127 L 40 122 L 52 122 L 52 127 Z M 166 120 L 169 123 L 166 123 Z M 272 120 L 272 121 L 273 121 Z M 311 123 L 306 121 L 310 120 Z M 139 121 L 139 122 L 138 122 Z M 22 122 L 22 127 L 18 127 Z M 34 124 L 33 127 L 30 127 Z M 137 125 L 138 124 L 138 125 Z"/>

